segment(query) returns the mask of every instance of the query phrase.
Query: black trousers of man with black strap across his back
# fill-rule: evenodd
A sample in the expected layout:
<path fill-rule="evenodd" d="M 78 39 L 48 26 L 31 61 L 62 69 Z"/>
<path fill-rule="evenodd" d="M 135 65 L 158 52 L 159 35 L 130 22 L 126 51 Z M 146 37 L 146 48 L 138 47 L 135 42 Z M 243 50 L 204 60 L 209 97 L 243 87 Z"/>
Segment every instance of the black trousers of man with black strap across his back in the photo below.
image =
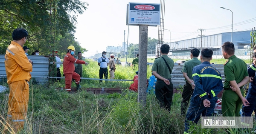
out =
<path fill-rule="evenodd" d="M 166 85 L 163 80 L 157 80 L 156 82 L 156 97 L 159 100 L 160 108 L 166 108 L 171 111 L 173 85 L 172 80 L 169 79 L 170 85 Z"/>

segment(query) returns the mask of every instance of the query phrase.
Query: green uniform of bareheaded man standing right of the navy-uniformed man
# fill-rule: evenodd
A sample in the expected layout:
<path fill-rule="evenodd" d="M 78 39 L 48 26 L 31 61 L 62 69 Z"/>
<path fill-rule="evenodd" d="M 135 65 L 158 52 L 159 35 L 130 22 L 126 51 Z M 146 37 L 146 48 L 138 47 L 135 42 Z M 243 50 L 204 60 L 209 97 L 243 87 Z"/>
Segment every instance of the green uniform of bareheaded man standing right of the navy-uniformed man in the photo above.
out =
<path fill-rule="evenodd" d="M 249 76 L 247 72 L 247 66 L 243 60 L 233 55 L 228 58 L 224 64 L 224 92 L 222 94 L 221 111 L 224 117 L 239 117 L 242 100 L 236 94 L 236 92 L 230 89 L 230 81 L 236 80 L 236 83 L 240 83 L 244 77 Z M 240 87 L 241 94 L 244 96 L 244 90 Z"/>

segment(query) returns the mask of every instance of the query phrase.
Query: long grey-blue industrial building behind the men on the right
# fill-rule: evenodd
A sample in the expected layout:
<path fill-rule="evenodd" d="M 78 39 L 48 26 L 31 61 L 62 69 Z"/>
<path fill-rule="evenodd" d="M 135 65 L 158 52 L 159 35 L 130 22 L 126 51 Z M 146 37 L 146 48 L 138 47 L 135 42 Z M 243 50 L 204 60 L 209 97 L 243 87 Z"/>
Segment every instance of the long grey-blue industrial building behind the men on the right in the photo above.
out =
<path fill-rule="evenodd" d="M 236 31 L 233 32 L 232 42 L 235 45 L 235 54 L 236 55 L 250 55 L 250 36 L 251 31 Z M 231 32 L 213 34 L 203 37 L 197 37 L 187 40 L 180 40 L 171 43 L 166 43 L 170 45 L 170 57 L 176 56 L 180 59 L 190 59 L 190 50 L 192 48 L 210 48 L 214 51 L 213 55 L 221 55 L 221 45 L 226 42 L 231 41 Z M 157 50 L 157 45 L 156 45 Z M 160 50 L 160 48 L 158 49 Z M 157 54 L 151 55 L 150 57 L 157 57 Z M 158 53 L 160 55 L 160 53 Z M 185 58 L 184 58 L 185 56 Z M 183 58 L 181 58 L 183 57 Z M 172 57 L 173 58 L 173 57 Z M 175 59 L 177 59 L 175 58 Z"/>

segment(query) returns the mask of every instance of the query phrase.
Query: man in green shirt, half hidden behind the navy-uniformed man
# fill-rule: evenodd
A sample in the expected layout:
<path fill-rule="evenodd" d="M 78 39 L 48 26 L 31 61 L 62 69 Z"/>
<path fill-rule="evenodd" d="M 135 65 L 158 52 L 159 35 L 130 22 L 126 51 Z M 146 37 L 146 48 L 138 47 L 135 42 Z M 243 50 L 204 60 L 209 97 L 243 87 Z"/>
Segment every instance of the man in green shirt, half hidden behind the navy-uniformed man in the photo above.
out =
<path fill-rule="evenodd" d="M 190 51 L 191 60 L 186 61 L 183 64 L 183 68 L 181 70 L 181 72 L 183 72 L 183 76 L 186 82 L 186 84 L 183 87 L 183 92 L 182 92 L 183 99 L 181 101 L 181 108 L 180 108 L 182 115 L 186 115 L 186 109 L 189 104 L 189 99 L 193 94 L 193 89 L 195 88 L 195 84 L 192 77 L 192 70 L 194 66 L 198 66 L 199 64 L 201 64 L 201 61 L 198 60 L 199 53 L 200 51 L 198 48 L 193 48 Z"/>

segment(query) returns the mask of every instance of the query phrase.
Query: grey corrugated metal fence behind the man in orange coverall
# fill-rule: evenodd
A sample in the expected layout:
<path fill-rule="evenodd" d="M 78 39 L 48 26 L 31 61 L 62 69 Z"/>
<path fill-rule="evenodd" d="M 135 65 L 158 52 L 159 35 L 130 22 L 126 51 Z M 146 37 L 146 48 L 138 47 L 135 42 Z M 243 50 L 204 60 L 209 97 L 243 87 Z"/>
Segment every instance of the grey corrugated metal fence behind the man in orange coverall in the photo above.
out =
<path fill-rule="evenodd" d="M 49 80 L 49 60 L 48 57 L 28 55 L 28 58 L 33 62 L 32 78 L 38 83 L 47 83 Z M 6 77 L 4 65 L 4 55 L 0 55 L 0 77 Z"/>

